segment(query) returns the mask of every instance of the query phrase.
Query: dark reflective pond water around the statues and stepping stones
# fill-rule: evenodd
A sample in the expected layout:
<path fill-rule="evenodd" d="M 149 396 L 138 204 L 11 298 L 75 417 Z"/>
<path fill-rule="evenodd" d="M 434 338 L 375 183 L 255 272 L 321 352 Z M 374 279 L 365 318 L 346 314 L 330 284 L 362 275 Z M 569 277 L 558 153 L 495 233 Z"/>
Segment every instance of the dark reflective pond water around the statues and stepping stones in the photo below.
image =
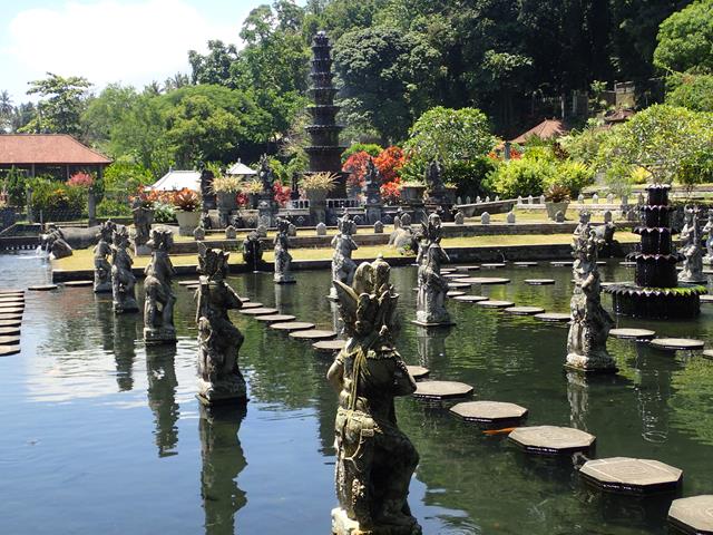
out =
<path fill-rule="evenodd" d="M 612 262 L 604 280 L 631 280 Z M 504 286 L 471 293 L 568 311 L 570 270 L 506 268 Z M 553 278 L 528 286 L 526 278 Z M 49 279 L 32 254 L 0 255 L 0 286 Z M 326 271 L 297 284 L 270 274 L 231 278 L 250 296 L 331 328 Z M 529 425 L 597 436 L 597 457 L 647 457 L 684 470 L 682 494 L 713 492 L 713 361 L 611 340 L 619 373 L 583 381 L 565 373 L 566 324 L 449 302 L 457 325 L 412 325 L 416 270 L 392 270 L 401 294 L 398 347 L 432 379 L 475 387 L 475 399 L 529 409 Z M 233 314 L 245 334 L 246 410 L 206 412 L 195 399 L 192 292 L 176 286 L 175 348 L 146 348 L 140 314 L 116 317 L 91 288 L 27 292 L 22 352 L 0 358 L 0 533 L 211 535 L 330 533 L 335 395 L 331 357 Z M 139 295 L 141 294 L 139 288 Z M 608 298 L 605 298 L 607 305 Z M 713 305 L 687 322 L 617 320 L 662 335 L 710 340 Z M 420 453 L 410 502 L 426 534 L 666 533 L 668 498 L 603 496 L 566 459 L 524 454 L 448 414 L 400 399 L 399 422 Z"/>

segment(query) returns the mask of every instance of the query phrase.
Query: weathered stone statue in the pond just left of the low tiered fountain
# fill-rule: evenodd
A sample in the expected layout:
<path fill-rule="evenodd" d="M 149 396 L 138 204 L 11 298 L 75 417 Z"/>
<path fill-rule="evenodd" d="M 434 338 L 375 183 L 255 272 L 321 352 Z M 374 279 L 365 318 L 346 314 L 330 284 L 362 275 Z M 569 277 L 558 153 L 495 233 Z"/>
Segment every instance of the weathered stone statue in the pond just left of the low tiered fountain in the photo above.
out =
<path fill-rule="evenodd" d="M 616 363 L 606 350 L 606 339 L 614 321 L 602 307 L 602 286 L 597 269 L 600 241 L 580 216 L 574 234 L 575 289 L 569 303 L 572 321 L 567 337 L 569 368 L 582 371 L 616 371 Z"/>

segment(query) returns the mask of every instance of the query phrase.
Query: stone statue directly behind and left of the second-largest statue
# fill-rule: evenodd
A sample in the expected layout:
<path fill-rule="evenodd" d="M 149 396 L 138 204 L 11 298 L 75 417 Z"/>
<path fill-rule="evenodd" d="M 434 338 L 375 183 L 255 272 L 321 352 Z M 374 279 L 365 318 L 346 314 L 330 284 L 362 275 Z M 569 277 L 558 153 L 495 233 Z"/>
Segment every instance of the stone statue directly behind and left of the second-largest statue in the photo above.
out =
<path fill-rule="evenodd" d="M 176 295 L 172 289 L 175 274 L 168 251 L 174 236 L 168 228 L 152 230 L 152 239 L 146 245 L 152 249 L 152 260 L 144 270 L 144 340 L 152 343 L 174 343 L 176 328 L 174 327 L 174 303 Z"/>

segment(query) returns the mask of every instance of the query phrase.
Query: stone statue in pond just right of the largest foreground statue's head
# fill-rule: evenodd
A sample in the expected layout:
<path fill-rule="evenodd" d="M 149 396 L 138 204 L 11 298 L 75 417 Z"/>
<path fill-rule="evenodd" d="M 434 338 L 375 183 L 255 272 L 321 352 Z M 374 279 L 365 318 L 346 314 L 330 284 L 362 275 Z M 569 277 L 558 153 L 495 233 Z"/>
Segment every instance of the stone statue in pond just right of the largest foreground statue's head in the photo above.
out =
<path fill-rule="evenodd" d="M 450 259 L 441 247 L 441 218 L 431 214 L 421 223 L 423 246 L 419 247 L 416 263 L 419 266 L 419 292 L 416 305 L 416 323 L 420 325 L 452 324 L 446 309 L 448 281 L 441 275 L 441 263 Z"/>

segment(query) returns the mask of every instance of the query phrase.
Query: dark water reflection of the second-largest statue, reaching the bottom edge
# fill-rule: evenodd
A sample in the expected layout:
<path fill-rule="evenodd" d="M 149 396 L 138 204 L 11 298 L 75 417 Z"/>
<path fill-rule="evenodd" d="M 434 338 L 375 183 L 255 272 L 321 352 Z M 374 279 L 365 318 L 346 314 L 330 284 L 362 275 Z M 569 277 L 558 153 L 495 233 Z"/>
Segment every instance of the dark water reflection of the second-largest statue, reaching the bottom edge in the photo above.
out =
<path fill-rule="evenodd" d="M 201 497 L 205 535 L 236 533 L 235 513 L 247 503 L 236 481 L 247 465 L 238 436 L 245 414 L 245 406 L 201 407 Z"/>

